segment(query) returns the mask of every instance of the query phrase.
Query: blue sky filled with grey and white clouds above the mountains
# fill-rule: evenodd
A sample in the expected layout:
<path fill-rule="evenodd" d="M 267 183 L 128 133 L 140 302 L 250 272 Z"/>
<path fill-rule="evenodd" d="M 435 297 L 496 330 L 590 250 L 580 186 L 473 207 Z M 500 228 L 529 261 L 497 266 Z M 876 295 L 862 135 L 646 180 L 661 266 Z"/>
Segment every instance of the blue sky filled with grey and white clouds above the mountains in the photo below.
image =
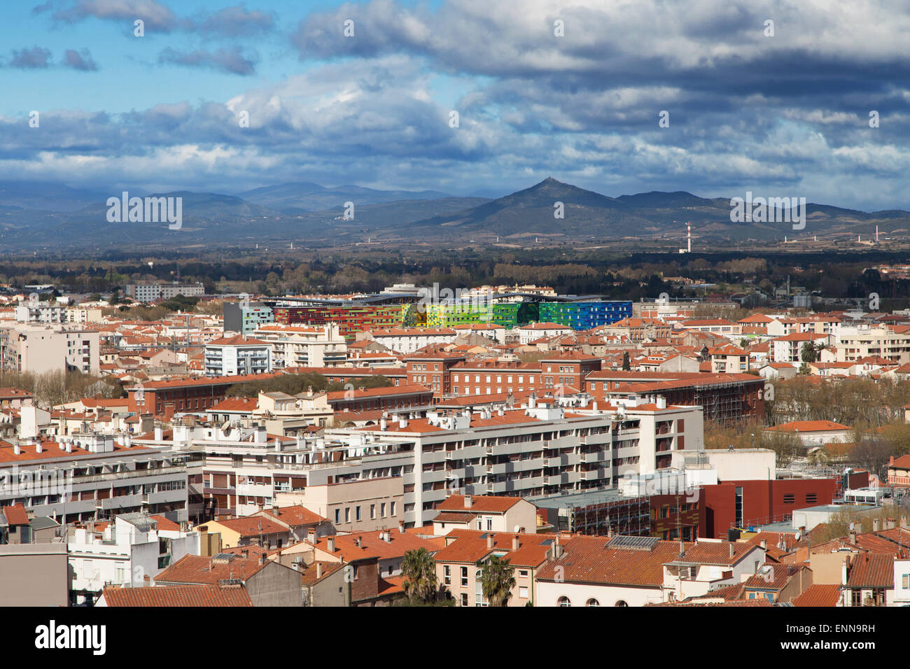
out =
<path fill-rule="evenodd" d="M 910 209 L 904 0 L 25 0 L 4 14 L 0 180 L 495 197 L 552 176 L 613 197 Z"/>

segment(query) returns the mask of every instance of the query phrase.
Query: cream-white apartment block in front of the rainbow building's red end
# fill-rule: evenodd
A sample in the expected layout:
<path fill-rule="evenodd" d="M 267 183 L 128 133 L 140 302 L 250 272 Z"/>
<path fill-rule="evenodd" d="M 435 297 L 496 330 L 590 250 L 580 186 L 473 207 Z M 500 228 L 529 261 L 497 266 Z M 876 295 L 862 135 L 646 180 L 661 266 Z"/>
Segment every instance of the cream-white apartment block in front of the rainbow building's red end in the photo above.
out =
<path fill-rule="evenodd" d="M 336 367 L 348 360 L 348 344 L 336 323 L 322 326 L 263 325 L 253 333 L 272 346 L 276 368 Z"/>

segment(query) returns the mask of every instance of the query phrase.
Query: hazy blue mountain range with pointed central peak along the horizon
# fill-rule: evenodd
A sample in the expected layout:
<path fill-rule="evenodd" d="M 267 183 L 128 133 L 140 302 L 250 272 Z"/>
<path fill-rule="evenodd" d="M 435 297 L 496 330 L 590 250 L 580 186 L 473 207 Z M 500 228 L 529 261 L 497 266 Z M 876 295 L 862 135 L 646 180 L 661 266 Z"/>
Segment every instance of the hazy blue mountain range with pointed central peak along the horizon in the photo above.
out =
<path fill-rule="evenodd" d="M 146 193 L 130 190 L 130 196 Z M 180 229 L 167 223 L 109 223 L 107 198 L 119 192 L 70 188 L 60 183 L 0 181 L 0 248 L 97 248 L 129 245 L 240 245 L 300 242 L 317 246 L 379 241 L 496 241 L 525 243 L 684 238 L 693 224 L 699 244 L 783 240 L 789 222 L 733 222 L 729 198 L 651 191 L 608 197 L 547 177 L 501 198 L 455 197 L 423 190 L 326 188 L 291 182 L 233 195 L 174 191 L 148 194 L 183 198 Z M 742 197 L 742 196 L 741 196 Z M 346 203 L 354 205 L 354 217 Z M 800 236 L 910 238 L 910 212 L 863 212 L 807 204 Z M 561 214 L 561 218 L 560 215 Z"/>

